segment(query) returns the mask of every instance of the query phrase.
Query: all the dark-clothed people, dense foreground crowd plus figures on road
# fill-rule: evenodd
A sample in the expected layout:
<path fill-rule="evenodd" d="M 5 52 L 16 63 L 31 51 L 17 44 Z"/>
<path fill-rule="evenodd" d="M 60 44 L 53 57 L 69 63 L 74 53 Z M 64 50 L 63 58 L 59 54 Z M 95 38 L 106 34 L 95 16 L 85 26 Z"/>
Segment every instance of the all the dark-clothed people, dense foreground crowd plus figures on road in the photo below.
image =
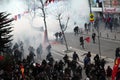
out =
<path fill-rule="evenodd" d="M 111 19 L 112 20 L 112 19 Z M 116 20 L 116 19 L 115 19 Z M 105 22 L 106 27 L 110 27 L 111 22 Z M 97 22 L 95 22 L 95 25 Z M 116 23 L 117 24 L 117 23 Z M 115 25 L 115 24 L 114 24 Z M 89 31 L 87 27 L 90 24 L 85 23 L 85 31 Z M 75 35 L 79 34 L 79 27 L 74 28 Z M 62 40 L 61 32 L 55 33 L 56 41 Z M 92 34 L 93 43 L 96 42 L 96 34 Z M 84 48 L 84 38 L 80 37 L 80 45 Z M 0 80 L 111 80 L 112 68 L 107 66 L 106 61 L 101 59 L 98 54 L 93 58 L 94 63 L 91 62 L 91 52 L 84 54 L 83 64 L 79 64 L 79 56 L 74 51 L 72 60 L 65 54 L 62 60 L 55 61 L 51 53 L 51 45 L 46 48 L 48 55 L 41 63 L 36 63 L 34 60 L 35 49 L 30 46 L 28 48 L 29 54 L 23 57 L 24 48 L 23 43 L 19 45 L 16 43 L 12 49 L 8 50 L 10 59 L 6 65 L 0 67 Z M 41 58 L 42 45 L 40 44 L 36 49 L 37 57 Z M 116 49 L 116 58 L 120 57 L 120 48 Z M 85 75 L 83 75 L 85 71 Z M 83 77 L 86 77 L 85 79 Z M 120 70 L 116 74 L 116 80 L 120 80 Z"/>

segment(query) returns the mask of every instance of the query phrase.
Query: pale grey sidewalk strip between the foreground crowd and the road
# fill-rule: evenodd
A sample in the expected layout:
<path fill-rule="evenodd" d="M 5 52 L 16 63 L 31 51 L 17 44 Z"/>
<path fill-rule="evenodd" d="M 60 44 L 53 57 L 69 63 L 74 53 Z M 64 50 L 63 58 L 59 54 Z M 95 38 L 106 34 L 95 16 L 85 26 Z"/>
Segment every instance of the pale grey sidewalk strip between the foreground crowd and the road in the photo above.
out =
<path fill-rule="evenodd" d="M 85 57 L 85 56 L 83 56 L 83 54 L 84 54 L 84 53 L 87 53 L 87 52 L 86 52 L 86 51 L 83 51 L 83 50 L 75 49 L 75 48 L 70 47 L 70 46 L 69 46 L 68 49 L 69 49 L 69 51 L 66 52 L 66 46 L 65 46 L 65 45 L 62 45 L 62 44 L 60 44 L 60 43 L 57 43 L 57 44 L 52 44 L 52 49 L 51 49 L 51 51 L 52 51 L 53 53 L 59 53 L 59 54 L 61 54 L 61 55 L 67 54 L 67 55 L 70 57 L 70 59 L 72 59 L 72 54 L 73 54 L 73 52 L 76 51 L 76 53 L 79 55 L 79 59 L 80 59 L 79 63 L 83 65 L 83 59 L 84 59 L 84 57 Z M 91 53 L 91 55 L 92 55 L 92 56 L 91 56 L 91 61 L 94 62 L 93 58 L 94 58 L 94 56 L 95 56 L 96 54 Z M 107 62 L 106 65 L 105 65 L 105 68 L 106 68 L 108 65 L 111 66 L 111 68 L 113 67 L 113 64 L 114 64 L 114 60 L 113 60 L 113 59 L 107 58 L 106 56 L 101 56 L 101 58 L 104 58 L 105 61 Z"/>

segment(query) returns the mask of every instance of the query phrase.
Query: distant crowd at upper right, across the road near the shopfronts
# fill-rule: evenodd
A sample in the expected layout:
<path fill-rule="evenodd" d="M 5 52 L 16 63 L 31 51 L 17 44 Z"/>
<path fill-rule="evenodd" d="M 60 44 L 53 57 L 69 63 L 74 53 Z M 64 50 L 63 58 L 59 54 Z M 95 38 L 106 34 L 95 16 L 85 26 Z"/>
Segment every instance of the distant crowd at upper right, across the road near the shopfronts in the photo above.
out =
<path fill-rule="evenodd" d="M 103 18 L 96 17 L 94 22 L 92 23 L 91 22 L 85 23 L 84 28 L 81 31 L 82 33 L 80 32 L 80 27 L 77 25 L 75 25 L 75 27 L 73 28 L 73 31 L 74 31 L 75 36 L 80 34 L 80 38 L 79 38 L 80 46 L 82 46 L 82 48 L 85 49 L 85 46 L 84 46 L 85 38 L 83 37 L 85 33 L 88 34 L 88 32 L 91 32 L 89 36 L 91 36 L 93 43 L 96 43 L 96 37 L 102 37 L 102 32 L 100 32 L 99 30 L 100 22 L 102 22 L 102 24 L 104 25 L 104 26 L 102 25 L 104 27 L 103 29 L 110 30 L 110 32 L 113 32 L 113 30 L 117 32 L 119 25 L 120 25 L 119 21 L 120 21 L 120 18 L 118 18 L 117 16 L 105 14 Z M 83 33 L 84 31 L 85 33 Z M 109 33 L 106 34 L 106 37 L 109 38 Z M 114 39 L 116 39 L 116 34 L 113 37 Z"/>

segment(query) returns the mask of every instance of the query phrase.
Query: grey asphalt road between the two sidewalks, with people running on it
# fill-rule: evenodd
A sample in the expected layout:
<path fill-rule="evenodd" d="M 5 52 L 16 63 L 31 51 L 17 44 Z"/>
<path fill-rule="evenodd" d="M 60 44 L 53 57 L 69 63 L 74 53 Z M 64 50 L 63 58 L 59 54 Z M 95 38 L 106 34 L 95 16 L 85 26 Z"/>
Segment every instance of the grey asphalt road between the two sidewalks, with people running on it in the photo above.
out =
<path fill-rule="evenodd" d="M 100 51 L 99 51 L 98 37 L 96 37 L 95 44 L 92 42 L 92 39 L 90 43 L 87 43 L 85 41 L 85 49 L 82 49 L 79 42 L 79 37 L 81 35 L 82 34 L 75 36 L 74 33 L 65 33 L 68 46 L 85 50 L 85 51 L 91 51 L 92 53 L 95 53 L 95 54 L 100 54 L 100 51 L 101 51 L 102 56 L 106 56 L 113 59 L 115 58 L 115 49 L 117 47 L 120 47 L 120 41 L 100 38 Z M 86 38 L 87 36 L 88 35 L 83 35 L 84 38 Z"/>

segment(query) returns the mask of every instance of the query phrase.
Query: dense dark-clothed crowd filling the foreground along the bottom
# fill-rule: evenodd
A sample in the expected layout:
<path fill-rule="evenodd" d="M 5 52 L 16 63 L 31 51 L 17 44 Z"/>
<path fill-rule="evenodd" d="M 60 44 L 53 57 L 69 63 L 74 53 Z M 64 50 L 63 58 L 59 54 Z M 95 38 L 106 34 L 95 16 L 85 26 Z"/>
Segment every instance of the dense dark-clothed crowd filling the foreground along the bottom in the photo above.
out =
<path fill-rule="evenodd" d="M 28 50 L 32 55 L 31 51 L 34 49 L 30 47 Z M 59 61 L 55 61 L 49 52 L 41 63 L 35 63 L 33 57 L 21 59 L 16 58 L 14 54 L 8 62 L 9 65 L 0 69 L 0 80 L 84 80 L 83 76 L 86 76 L 85 80 L 111 80 L 112 69 L 110 66 L 105 69 L 104 59 L 96 55 L 94 63 L 91 63 L 91 52 L 84 55 L 84 66 L 82 66 L 75 51 L 72 60 L 65 54 Z M 83 71 L 86 75 L 83 75 Z"/>

